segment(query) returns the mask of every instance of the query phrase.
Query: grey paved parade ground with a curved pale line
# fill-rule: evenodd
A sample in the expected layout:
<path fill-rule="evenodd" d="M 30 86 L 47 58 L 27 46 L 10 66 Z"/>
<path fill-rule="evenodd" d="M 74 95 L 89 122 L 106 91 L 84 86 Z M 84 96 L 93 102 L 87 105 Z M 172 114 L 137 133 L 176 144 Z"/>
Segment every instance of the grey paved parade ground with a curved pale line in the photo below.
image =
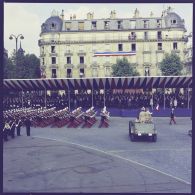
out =
<path fill-rule="evenodd" d="M 128 121 L 109 128 L 31 128 L 4 142 L 4 192 L 190 193 L 190 117 L 155 117 L 157 142 L 131 142 Z"/>

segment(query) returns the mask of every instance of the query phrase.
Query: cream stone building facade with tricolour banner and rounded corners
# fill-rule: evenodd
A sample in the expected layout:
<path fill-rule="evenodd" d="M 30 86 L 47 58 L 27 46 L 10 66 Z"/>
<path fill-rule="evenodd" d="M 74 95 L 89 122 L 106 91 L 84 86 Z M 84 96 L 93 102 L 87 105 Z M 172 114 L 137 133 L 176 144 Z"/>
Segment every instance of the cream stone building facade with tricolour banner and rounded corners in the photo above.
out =
<path fill-rule="evenodd" d="M 188 37 L 184 20 L 170 8 L 154 17 L 64 19 L 55 11 L 41 26 L 39 47 L 43 77 L 79 78 L 112 76 L 112 65 L 124 56 L 145 76 L 161 75 L 159 63 L 165 53 L 185 58 Z"/>

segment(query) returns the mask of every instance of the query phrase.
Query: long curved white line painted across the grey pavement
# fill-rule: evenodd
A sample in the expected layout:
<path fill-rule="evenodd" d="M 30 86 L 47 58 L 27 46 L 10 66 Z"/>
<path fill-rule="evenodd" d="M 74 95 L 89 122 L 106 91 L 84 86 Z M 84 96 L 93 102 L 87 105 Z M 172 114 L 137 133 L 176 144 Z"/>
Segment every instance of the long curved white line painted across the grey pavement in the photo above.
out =
<path fill-rule="evenodd" d="M 137 165 L 146 167 L 146 168 L 151 169 L 151 170 L 153 170 L 153 171 L 156 171 L 156 172 L 159 172 L 159 173 L 161 173 L 161 174 L 164 174 L 164 175 L 167 175 L 167 176 L 169 176 L 169 177 L 172 177 L 172 178 L 174 178 L 174 179 L 176 179 L 176 180 L 178 180 L 178 181 L 181 181 L 181 182 L 183 182 L 183 183 L 185 183 L 185 184 L 191 185 L 190 182 L 185 181 L 185 180 L 183 180 L 183 179 L 181 179 L 181 178 L 179 178 L 179 177 L 175 177 L 175 176 L 173 176 L 173 175 L 171 175 L 171 174 L 165 173 L 165 172 L 160 171 L 160 170 L 158 170 L 158 169 L 152 168 L 152 167 L 150 167 L 150 166 L 144 165 L 144 164 L 142 164 L 142 163 L 139 163 L 139 162 L 136 162 L 136 161 L 133 161 L 133 160 L 124 158 L 124 157 L 122 157 L 122 156 L 119 156 L 119 155 L 117 155 L 117 154 L 113 154 L 113 153 L 110 153 L 110 152 L 107 152 L 107 151 L 104 151 L 104 150 L 100 150 L 100 149 L 93 148 L 93 147 L 90 147 L 90 146 L 85 146 L 85 145 L 81 145 L 81 144 L 78 144 L 78 143 L 69 142 L 69 141 L 61 140 L 61 139 L 48 138 L 48 137 L 41 137 L 41 136 L 32 136 L 32 137 L 35 137 L 35 138 L 42 138 L 42 139 L 48 139 L 48 140 L 53 140 L 53 141 L 60 141 L 60 142 L 64 142 L 64 143 L 67 143 L 67 144 L 72 144 L 72 145 L 80 146 L 80 147 L 83 147 L 83 148 L 87 148 L 87 149 L 90 149 L 90 150 L 95 150 L 95 151 L 98 151 L 98 152 L 107 154 L 107 155 L 109 155 L 109 156 L 117 157 L 117 158 L 126 160 L 126 161 L 128 161 L 128 162 L 131 162 L 131 163 L 134 163 L 134 164 L 137 164 Z"/>

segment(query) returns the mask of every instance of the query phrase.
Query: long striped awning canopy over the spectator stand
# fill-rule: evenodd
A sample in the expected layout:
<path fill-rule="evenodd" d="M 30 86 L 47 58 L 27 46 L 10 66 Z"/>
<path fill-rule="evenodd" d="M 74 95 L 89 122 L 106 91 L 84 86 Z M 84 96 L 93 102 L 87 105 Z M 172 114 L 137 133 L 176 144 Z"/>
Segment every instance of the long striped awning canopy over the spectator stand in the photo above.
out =
<path fill-rule="evenodd" d="M 191 76 L 4 79 L 5 90 L 147 89 L 192 87 Z"/>

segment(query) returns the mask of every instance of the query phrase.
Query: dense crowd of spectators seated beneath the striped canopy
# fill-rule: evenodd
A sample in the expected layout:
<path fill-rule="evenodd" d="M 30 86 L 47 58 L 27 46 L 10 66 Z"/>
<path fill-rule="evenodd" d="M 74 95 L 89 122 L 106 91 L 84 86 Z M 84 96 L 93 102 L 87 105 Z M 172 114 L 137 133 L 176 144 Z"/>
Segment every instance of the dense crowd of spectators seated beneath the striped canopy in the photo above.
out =
<path fill-rule="evenodd" d="M 150 107 L 154 108 L 157 105 L 163 107 L 180 107 L 187 108 L 188 101 L 189 107 L 192 106 L 192 97 L 189 96 L 189 99 L 186 94 L 183 93 L 163 93 L 161 92 L 138 92 L 138 93 L 113 93 L 107 92 L 100 94 L 97 91 L 94 94 L 88 94 L 87 92 L 82 92 L 74 94 L 73 92 L 68 94 L 56 94 L 45 95 L 45 94 L 35 94 L 29 93 L 21 96 L 6 96 L 3 100 L 4 110 L 15 109 L 21 107 L 32 107 L 39 108 L 45 107 L 48 108 L 56 107 L 57 109 L 62 109 L 69 107 L 74 109 L 77 107 L 89 108 L 94 106 L 96 108 L 102 108 L 105 105 L 107 108 L 124 108 L 124 109 L 137 109 L 140 107 Z M 93 105 L 92 105 L 93 104 Z"/>

